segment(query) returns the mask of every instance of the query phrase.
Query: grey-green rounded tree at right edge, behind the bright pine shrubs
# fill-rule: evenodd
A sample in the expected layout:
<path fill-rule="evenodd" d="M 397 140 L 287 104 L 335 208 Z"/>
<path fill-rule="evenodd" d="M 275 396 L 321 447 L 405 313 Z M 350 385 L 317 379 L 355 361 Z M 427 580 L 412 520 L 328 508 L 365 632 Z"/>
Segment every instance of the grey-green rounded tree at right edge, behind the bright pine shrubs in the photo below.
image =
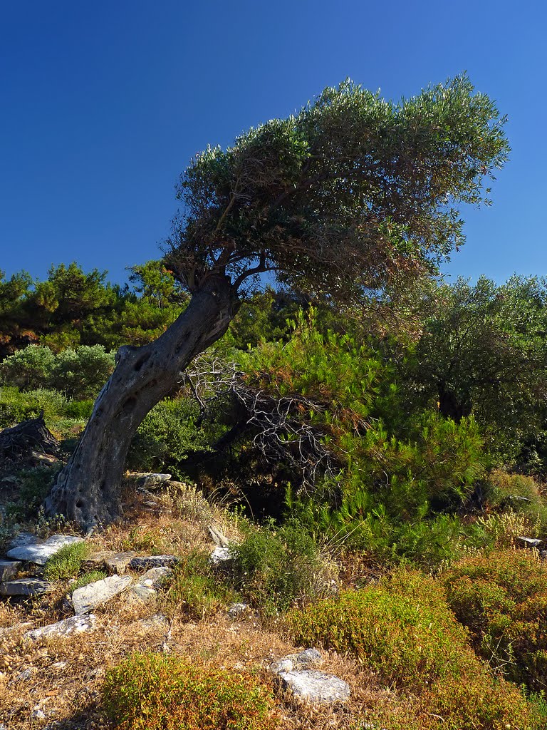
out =
<path fill-rule="evenodd" d="M 447 418 L 473 414 L 498 456 L 516 458 L 543 429 L 547 395 L 547 283 L 497 286 L 459 279 L 431 291 L 424 334 L 408 361 L 419 401 Z"/>

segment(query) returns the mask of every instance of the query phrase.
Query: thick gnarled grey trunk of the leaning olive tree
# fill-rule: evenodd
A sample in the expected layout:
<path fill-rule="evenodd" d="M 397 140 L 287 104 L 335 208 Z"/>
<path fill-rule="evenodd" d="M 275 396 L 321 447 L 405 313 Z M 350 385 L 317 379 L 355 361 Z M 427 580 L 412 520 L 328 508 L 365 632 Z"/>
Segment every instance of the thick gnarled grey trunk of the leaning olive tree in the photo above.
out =
<path fill-rule="evenodd" d="M 121 517 L 120 483 L 136 429 L 190 361 L 222 337 L 238 305 L 228 277 L 211 277 L 155 342 L 120 347 L 79 445 L 46 499 L 47 514 L 61 513 L 85 530 Z"/>

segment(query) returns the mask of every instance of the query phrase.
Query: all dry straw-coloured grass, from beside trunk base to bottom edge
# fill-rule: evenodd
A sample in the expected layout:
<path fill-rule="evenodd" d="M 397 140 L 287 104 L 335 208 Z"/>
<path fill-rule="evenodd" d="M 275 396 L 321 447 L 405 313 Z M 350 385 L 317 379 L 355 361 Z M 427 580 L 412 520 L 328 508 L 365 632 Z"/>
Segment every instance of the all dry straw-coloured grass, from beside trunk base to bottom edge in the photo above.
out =
<path fill-rule="evenodd" d="M 145 504 L 152 501 L 156 504 Z M 196 547 L 212 549 L 207 532 L 212 523 L 232 539 L 238 536 L 236 521 L 193 491 L 149 496 L 128 490 L 123 523 L 93 536 L 90 548 L 183 556 Z M 266 669 L 274 658 L 298 649 L 284 639 L 276 621 L 265 624 L 253 614 L 234 621 L 221 610 L 208 621 L 187 622 L 175 614 L 171 624 L 143 623 L 155 615 L 158 603 L 131 599 L 130 594 L 96 610 L 93 633 L 38 642 L 23 639 L 28 629 L 71 615 L 65 596 L 66 584 L 60 582 L 36 599 L 0 604 L 0 722 L 9 730 L 109 728 L 100 702 L 104 672 L 128 654 L 145 650 L 168 651 L 195 664 L 259 672 L 279 698 L 282 730 L 346 729 L 368 708 L 387 707 L 394 699 L 356 661 L 325 653 L 322 669 L 345 679 L 352 698 L 335 707 L 295 702 Z"/>

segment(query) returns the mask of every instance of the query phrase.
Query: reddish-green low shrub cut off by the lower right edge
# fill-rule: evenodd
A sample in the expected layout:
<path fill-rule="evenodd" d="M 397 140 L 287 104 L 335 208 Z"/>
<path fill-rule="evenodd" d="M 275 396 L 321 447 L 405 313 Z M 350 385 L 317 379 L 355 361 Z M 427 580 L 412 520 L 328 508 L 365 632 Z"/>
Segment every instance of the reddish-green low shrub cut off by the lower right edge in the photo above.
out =
<path fill-rule="evenodd" d="M 532 550 L 495 550 L 442 576 L 478 654 L 508 679 L 547 689 L 547 566 Z"/>

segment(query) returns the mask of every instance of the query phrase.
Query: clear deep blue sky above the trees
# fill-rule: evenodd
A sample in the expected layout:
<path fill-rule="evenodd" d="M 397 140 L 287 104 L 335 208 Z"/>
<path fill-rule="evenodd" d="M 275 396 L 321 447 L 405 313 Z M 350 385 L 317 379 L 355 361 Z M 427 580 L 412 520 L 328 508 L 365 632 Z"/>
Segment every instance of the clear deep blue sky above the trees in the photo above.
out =
<path fill-rule="evenodd" d="M 28 0 L 0 20 L 0 269 L 159 255 L 208 143 L 352 77 L 391 99 L 464 70 L 508 114 L 494 206 L 446 270 L 547 274 L 547 10 L 539 0 Z"/>

